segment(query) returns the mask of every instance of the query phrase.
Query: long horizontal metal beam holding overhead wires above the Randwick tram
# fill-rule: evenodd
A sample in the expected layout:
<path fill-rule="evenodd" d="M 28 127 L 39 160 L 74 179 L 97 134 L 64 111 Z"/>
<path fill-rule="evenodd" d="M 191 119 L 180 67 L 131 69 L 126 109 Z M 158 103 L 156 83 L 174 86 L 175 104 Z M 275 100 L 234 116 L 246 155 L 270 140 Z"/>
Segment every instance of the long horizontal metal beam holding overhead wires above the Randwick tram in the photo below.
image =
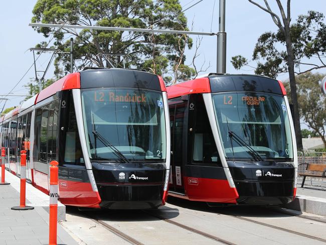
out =
<path fill-rule="evenodd" d="M 192 32 L 192 31 L 159 30 L 159 29 L 143 29 L 143 28 L 124 28 L 124 27 L 77 26 L 77 25 L 64 25 L 64 24 L 30 23 L 29 26 L 31 26 L 31 27 L 48 27 L 48 28 L 89 29 L 89 30 L 102 30 L 102 31 L 170 33 L 170 34 L 203 35 L 203 36 L 217 35 L 216 33 L 212 33 L 212 32 Z"/>

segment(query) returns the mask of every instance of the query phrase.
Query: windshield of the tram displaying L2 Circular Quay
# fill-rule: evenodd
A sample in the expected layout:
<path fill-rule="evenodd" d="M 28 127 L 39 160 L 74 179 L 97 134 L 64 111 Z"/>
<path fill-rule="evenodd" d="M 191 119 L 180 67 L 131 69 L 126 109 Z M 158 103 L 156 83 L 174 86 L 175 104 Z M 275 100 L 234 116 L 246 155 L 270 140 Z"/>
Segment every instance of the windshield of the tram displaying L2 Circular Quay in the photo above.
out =
<path fill-rule="evenodd" d="M 212 98 L 226 158 L 255 161 L 293 158 L 283 96 L 231 92 L 213 94 Z"/>

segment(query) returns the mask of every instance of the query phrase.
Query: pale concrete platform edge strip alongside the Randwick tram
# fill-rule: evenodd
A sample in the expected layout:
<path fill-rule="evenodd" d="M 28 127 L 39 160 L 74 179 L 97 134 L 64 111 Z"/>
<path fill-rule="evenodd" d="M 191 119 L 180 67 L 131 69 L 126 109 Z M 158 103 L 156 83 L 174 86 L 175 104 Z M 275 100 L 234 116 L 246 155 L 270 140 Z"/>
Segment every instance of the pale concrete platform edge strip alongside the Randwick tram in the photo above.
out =
<path fill-rule="evenodd" d="M 0 173 L 1 176 L 1 173 Z M 6 171 L 6 182 L 18 191 L 21 190 L 21 179 L 12 173 Z M 33 207 L 42 207 L 49 212 L 50 197 L 42 191 L 35 188 L 32 184 L 26 183 L 26 205 Z M 17 202 L 19 206 L 19 200 Z M 15 205 L 15 206 L 17 206 Z M 66 206 L 58 202 L 58 220 L 66 220 Z"/>

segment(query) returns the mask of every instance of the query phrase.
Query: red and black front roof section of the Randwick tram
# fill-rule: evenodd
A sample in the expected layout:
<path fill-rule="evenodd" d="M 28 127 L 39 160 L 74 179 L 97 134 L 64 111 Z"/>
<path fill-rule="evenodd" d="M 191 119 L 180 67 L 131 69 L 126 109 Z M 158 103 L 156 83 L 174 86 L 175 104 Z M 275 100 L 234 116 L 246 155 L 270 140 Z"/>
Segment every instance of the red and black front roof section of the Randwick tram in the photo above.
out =
<path fill-rule="evenodd" d="M 74 88 L 135 87 L 167 91 L 163 79 L 155 74 L 132 69 L 87 69 L 70 73 L 43 89 L 35 104 L 56 94 Z"/>

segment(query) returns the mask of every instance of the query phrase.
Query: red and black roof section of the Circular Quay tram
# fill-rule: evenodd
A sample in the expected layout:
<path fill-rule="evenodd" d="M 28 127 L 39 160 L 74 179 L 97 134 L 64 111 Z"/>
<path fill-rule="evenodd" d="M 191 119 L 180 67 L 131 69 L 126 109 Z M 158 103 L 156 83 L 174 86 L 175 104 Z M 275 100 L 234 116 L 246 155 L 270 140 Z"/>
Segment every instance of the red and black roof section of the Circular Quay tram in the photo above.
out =
<path fill-rule="evenodd" d="M 231 91 L 268 92 L 286 95 L 283 84 L 275 79 L 249 74 L 210 73 L 167 87 L 168 98 L 176 98 L 192 93 L 215 93 Z"/>

